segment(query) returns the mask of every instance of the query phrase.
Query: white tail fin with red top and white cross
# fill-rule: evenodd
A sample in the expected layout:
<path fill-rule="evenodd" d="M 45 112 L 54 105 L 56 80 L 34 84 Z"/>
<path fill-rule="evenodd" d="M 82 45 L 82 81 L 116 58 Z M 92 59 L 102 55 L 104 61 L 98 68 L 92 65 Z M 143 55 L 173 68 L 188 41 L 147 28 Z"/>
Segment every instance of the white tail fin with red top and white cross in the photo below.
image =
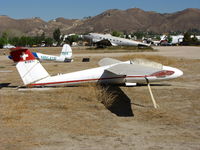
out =
<path fill-rule="evenodd" d="M 48 72 L 35 59 L 29 49 L 12 48 L 10 55 L 16 63 L 17 70 L 25 85 L 34 83 L 49 76 Z"/>

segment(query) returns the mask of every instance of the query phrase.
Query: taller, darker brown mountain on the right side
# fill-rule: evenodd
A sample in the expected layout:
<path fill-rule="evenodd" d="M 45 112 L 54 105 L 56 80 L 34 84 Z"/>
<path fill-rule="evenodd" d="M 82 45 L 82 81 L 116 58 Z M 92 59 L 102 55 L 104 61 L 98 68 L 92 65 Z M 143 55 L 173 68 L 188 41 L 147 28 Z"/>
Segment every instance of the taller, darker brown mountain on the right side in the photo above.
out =
<path fill-rule="evenodd" d="M 169 31 L 200 30 L 200 9 L 186 9 L 171 14 L 147 12 L 138 8 L 128 10 L 108 10 L 100 15 L 84 20 L 73 28 L 73 32 L 109 31 Z"/>

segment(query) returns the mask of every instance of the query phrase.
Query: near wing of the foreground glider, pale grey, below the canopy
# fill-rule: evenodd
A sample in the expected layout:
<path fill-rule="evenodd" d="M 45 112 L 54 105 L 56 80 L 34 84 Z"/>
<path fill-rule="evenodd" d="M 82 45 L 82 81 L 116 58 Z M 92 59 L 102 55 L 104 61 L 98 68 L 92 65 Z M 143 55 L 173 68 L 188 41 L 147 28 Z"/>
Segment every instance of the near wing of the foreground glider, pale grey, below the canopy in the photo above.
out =
<path fill-rule="evenodd" d="M 118 64 L 106 69 L 115 75 L 145 76 L 161 71 L 160 69 L 146 67 L 138 64 Z"/>

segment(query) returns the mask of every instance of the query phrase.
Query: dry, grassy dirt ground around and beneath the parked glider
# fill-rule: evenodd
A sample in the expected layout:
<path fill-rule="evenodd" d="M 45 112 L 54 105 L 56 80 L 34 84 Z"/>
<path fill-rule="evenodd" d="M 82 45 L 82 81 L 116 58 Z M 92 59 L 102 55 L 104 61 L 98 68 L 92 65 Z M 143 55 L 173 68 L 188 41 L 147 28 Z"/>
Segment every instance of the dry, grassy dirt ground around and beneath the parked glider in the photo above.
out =
<path fill-rule="evenodd" d="M 199 150 L 200 47 L 156 49 L 95 53 L 73 48 L 74 62 L 42 65 L 55 75 L 97 67 L 101 58 L 109 56 L 147 58 L 181 69 L 181 78 L 152 84 L 157 110 L 146 86 L 18 88 L 23 83 L 2 50 L 0 150 Z M 41 52 L 59 54 L 60 48 Z M 83 57 L 90 62 L 81 62 Z M 109 108 L 101 103 L 103 99 L 111 100 Z"/>

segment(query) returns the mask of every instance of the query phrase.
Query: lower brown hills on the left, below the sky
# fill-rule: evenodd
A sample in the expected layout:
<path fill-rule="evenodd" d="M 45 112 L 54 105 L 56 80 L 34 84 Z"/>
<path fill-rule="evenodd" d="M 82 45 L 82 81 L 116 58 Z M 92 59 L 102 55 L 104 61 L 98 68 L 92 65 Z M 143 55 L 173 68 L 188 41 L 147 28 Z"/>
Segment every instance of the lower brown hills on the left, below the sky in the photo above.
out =
<path fill-rule="evenodd" d="M 8 16 L 0 16 L 0 33 L 7 31 L 12 35 L 41 35 L 43 32 L 47 36 L 51 36 L 53 31 L 60 28 L 62 32 L 66 33 L 75 22 L 76 19 L 57 18 L 49 22 L 35 17 L 30 19 L 12 19 Z"/>

